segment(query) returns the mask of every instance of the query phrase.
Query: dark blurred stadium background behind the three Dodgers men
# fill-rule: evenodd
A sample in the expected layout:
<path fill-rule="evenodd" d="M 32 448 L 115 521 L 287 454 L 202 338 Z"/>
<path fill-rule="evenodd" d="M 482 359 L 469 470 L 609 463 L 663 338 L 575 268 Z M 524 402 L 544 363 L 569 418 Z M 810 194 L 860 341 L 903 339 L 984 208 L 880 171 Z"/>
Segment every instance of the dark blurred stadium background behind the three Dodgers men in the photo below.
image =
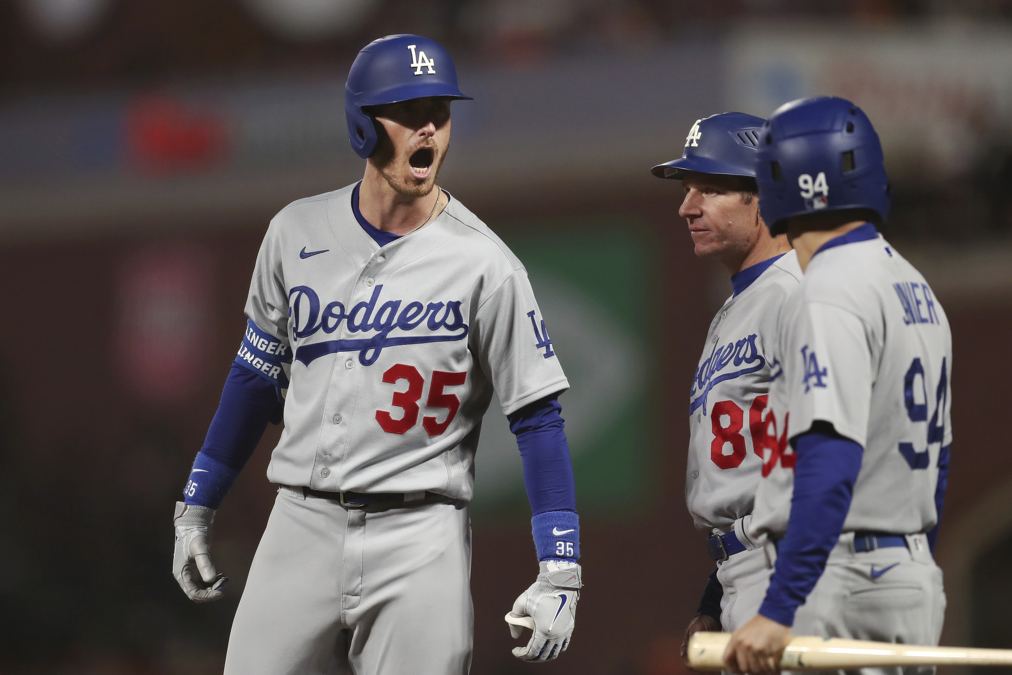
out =
<path fill-rule="evenodd" d="M 542 670 L 684 672 L 711 569 L 684 507 L 684 405 L 730 284 L 649 169 L 698 117 L 808 94 L 878 128 L 886 234 L 952 322 L 943 641 L 1012 647 L 1009 0 L 6 0 L 0 673 L 221 672 L 277 430 L 219 516 L 228 600 L 193 605 L 170 577 L 172 502 L 267 222 L 361 176 L 344 78 L 395 32 L 454 55 L 476 100 L 453 105 L 439 182 L 529 268 L 574 386 L 588 586 L 572 649 Z M 478 483 L 472 672 L 527 672 L 502 615 L 535 571 L 529 511 L 495 405 Z"/>

